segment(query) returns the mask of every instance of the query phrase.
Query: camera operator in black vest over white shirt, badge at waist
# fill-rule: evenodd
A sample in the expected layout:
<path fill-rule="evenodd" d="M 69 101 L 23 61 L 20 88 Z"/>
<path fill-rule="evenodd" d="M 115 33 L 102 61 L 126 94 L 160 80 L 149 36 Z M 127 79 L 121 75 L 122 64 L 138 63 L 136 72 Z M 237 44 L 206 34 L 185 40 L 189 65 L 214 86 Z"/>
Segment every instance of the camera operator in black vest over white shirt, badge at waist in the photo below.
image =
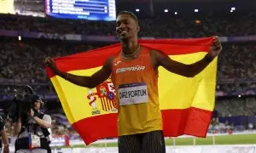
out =
<path fill-rule="evenodd" d="M 15 123 L 15 153 L 49 153 L 49 130 L 51 117 L 39 112 L 43 101 L 37 96 L 32 96 L 31 111 L 21 111 Z M 22 104 L 20 104 L 22 105 Z"/>

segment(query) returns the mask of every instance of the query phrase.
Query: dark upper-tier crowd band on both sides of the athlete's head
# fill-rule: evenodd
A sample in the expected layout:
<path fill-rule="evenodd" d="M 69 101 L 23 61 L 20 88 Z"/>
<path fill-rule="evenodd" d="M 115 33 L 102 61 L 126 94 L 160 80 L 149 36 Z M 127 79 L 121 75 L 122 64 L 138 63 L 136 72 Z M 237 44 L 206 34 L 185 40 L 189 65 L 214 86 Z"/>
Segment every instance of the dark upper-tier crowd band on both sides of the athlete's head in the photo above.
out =
<path fill-rule="evenodd" d="M 212 35 L 227 37 L 256 34 L 254 24 L 256 12 L 191 15 L 139 19 L 141 26 L 139 35 L 143 37 L 206 37 Z M 0 30 L 115 36 L 114 21 L 56 20 L 10 14 L 1 14 L 0 17 Z"/>

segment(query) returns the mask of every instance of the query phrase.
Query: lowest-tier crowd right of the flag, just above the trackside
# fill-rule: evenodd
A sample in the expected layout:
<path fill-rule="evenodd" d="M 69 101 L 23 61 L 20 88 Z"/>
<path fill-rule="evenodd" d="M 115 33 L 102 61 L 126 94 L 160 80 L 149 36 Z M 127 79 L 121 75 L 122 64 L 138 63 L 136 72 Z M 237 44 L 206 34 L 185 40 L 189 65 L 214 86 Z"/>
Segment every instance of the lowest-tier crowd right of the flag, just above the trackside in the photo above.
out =
<path fill-rule="evenodd" d="M 218 98 L 209 133 L 230 133 L 256 129 L 256 97 Z"/>

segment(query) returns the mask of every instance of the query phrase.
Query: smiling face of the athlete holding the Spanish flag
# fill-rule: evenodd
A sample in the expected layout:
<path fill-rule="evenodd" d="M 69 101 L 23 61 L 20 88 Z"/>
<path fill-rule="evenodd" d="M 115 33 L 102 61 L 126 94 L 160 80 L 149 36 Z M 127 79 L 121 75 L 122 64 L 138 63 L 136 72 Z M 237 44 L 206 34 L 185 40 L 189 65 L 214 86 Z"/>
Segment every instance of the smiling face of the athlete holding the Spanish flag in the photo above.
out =
<path fill-rule="evenodd" d="M 116 19 L 116 33 L 121 40 L 137 37 L 139 26 L 130 14 L 120 14 Z"/>

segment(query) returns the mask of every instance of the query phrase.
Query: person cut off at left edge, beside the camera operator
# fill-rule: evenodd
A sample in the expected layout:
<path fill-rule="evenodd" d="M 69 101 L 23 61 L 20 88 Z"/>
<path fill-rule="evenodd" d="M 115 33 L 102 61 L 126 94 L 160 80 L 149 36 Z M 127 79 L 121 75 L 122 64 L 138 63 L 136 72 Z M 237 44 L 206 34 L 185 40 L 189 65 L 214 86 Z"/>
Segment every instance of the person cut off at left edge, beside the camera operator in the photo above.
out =
<path fill-rule="evenodd" d="M 1 133 L 0 148 L 1 148 L 1 152 L 3 147 L 3 153 L 9 153 L 9 142 L 8 142 L 6 131 L 4 129 L 4 125 L 5 125 L 5 117 L 3 115 L 0 115 L 0 133 Z M 3 141 L 3 146 L 2 146 L 2 141 Z"/>

